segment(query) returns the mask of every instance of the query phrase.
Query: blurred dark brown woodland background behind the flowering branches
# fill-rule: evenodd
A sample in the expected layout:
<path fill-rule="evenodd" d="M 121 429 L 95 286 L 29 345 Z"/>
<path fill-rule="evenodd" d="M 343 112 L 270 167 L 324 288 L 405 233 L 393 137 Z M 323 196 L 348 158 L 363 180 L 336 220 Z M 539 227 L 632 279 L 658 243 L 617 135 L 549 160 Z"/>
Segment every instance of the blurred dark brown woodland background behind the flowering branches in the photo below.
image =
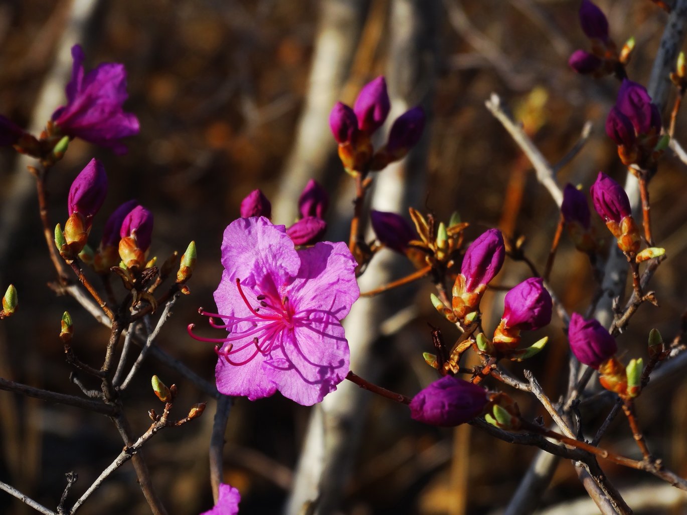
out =
<path fill-rule="evenodd" d="M 646 84 L 667 15 L 647 0 L 599 0 L 598 5 L 607 13 L 618 45 L 635 36 L 629 76 Z M 352 181 L 337 160 L 327 118 L 336 100 L 352 105 L 359 89 L 376 76 L 387 76 L 392 114 L 421 103 L 429 116 L 416 152 L 379 174 L 384 182 L 374 192 L 376 205 L 391 204 L 404 214 L 414 205 L 439 220 L 459 211 L 471 223 L 468 241 L 488 227 L 525 236 L 528 257 L 543 268 L 559 211 L 484 101 L 492 92 L 501 95 L 551 163 L 576 144 L 585 122 L 591 121 L 589 139 L 560 170 L 559 183 L 581 183 L 588 191 L 598 170 L 624 181 L 616 146 L 603 129 L 618 82 L 577 76 L 567 67 L 572 51 L 588 45 L 579 28 L 578 6 L 577 0 L 3 0 L 0 113 L 20 126 L 43 126 L 65 100 L 63 87 L 71 71 L 68 49 L 74 43 L 82 43 L 87 69 L 100 62 L 126 65 L 130 96 L 125 110 L 139 117 L 140 135 L 126 141 L 124 157 L 74 141 L 49 176 L 49 216 L 53 224 L 66 220 L 69 185 L 97 157 L 108 172 L 110 189 L 95 220 L 93 242 L 100 238 L 107 214 L 129 198 L 155 214 L 151 253 L 159 259 L 174 250 L 183 252 L 195 240 L 199 260 L 189 283 L 192 295 L 179 299 L 157 345 L 214 381 L 211 344 L 190 339 L 185 327 L 193 322 L 205 330 L 196 310 L 214 308 L 223 229 L 238 216 L 241 199 L 258 187 L 273 203 L 273 221 L 290 224 L 298 194 L 315 178 L 332 197 L 326 238 L 346 240 Z M 56 97 L 54 89 L 52 97 L 43 89 L 50 81 L 58 84 Z M 46 102 L 41 100 L 44 93 L 50 99 L 42 111 L 47 115 L 36 119 L 40 103 Z M 671 93 L 668 105 L 673 98 Z M 687 142 L 681 138 L 684 128 L 681 116 L 675 135 L 682 143 Z M 56 297 L 47 286 L 56 277 L 41 235 L 34 185 L 11 149 L 0 152 L 0 177 L 1 288 L 14 284 L 20 301 L 16 316 L 0 324 L 0 376 L 80 395 L 69 382 L 71 367 L 58 339 L 60 317 L 69 310 L 74 350 L 94 366 L 100 366 L 108 332 L 73 299 Z M 667 341 L 679 333 L 686 309 L 686 191 L 685 165 L 667 152 L 651 182 L 653 233 L 668 254 L 651 286 L 661 306 L 642 306 L 618 339 L 626 361 L 646 359 L 649 329 L 659 329 Z M 381 262 L 389 263 L 385 271 L 391 279 L 412 270 L 393 256 L 385 259 Z M 506 260 L 494 284 L 513 286 L 528 274 L 524 264 Z M 551 282 L 569 312 L 585 311 L 594 290 L 592 271 L 585 255 L 565 236 Z M 431 352 L 427 324 L 442 329 L 447 341 L 458 336 L 434 312 L 430 292 L 429 282 L 418 282 L 378 297 L 370 301 L 379 308 L 368 312 L 373 313 L 371 325 L 357 331 L 347 328 L 352 347 L 356 343 L 351 335 L 366 332 L 361 368 L 379 384 L 408 396 L 434 378 L 422 358 L 422 352 Z M 482 308 L 485 327 L 495 327 L 502 293 L 492 290 Z M 567 378 L 561 321 L 554 316 L 531 341 L 544 335 L 550 337 L 548 347 L 526 367 L 556 400 Z M 523 369 L 506 366 L 518 376 Z M 209 401 L 201 419 L 162 431 L 144 448 L 153 483 L 170 513 L 208 510 L 212 494 L 207 445 L 215 403 L 192 382 L 148 358 L 124 396 L 137 435 L 150 424 L 148 409 L 161 408 L 149 386 L 153 374 L 168 385 L 177 384 L 179 417 L 194 402 Z M 545 415 L 530 398 L 507 393 L 526 415 Z M 424 426 L 412 421 L 400 404 L 367 392 L 361 402 L 354 434 L 364 437 L 346 443 L 350 463 L 339 474 L 335 512 L 502 510 L 536 453 L 469 427 Z M 683 477 L 686 402 L 687 382 L 679 372 L 652 382 L 637 402 L 652 452 Z M 240 489 L 242 513 L 282 510 L 297 479 L 308 420 L 316 409 L 279 394 L 258 402 L 236 400 L 227 426 L 224 479 Z M 605 413 L 585 419 L 591 435 Z M 63 492 L 66 472 L 79 474 L 69 498 L 73 503 L 122 449 L 115 428 L 102 415 L 5 391 L 0 391 L 0 435 L 0 480 L 49 507 L 56 506 Z M 601 445 L 639 456 L 622 416 Z M 668 493 L 655 493 L 663 485 L 649 474 L 603 462 L 601 466 L 621 492 L 639 494 L 642 503 L 634 501 L 638 506 L 668 499 Z M 126 464 L 80 512 L 147 513 L 135 479 Z M 677 492 L 665 501 L 667 507 L 649 505 L 636 512 L 682 513 L 687 503 Z M 550 488 L 541 494 L 541 507 L 572 513 L 566 503 L 585 496 L 572 464 L 561 461 Z M 594 512 L 588 506 L 582 510 Z M 0 513 L 29 512 L 0 492 Z"/>

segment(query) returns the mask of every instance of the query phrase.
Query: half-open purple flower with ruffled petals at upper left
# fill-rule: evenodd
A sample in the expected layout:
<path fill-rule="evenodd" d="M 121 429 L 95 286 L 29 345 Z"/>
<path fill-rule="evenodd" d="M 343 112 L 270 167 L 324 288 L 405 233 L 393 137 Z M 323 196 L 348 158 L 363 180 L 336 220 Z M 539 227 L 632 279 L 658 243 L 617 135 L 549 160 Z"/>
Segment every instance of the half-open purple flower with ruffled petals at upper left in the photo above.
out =
<path fill-rule="evenodd" d="M 103 63 L 85 73 L 80 45 L 71 47 L 71 57 L 74 65 L 65 88 L 67 105 L 53 113 L 53 121 L 65 135 L 112 148 L 116 154 L 126 153 L 120 139 L 137 135 L 139 124 L 135 115 L 122 109 L 128 98 L 124 65 Z"/>

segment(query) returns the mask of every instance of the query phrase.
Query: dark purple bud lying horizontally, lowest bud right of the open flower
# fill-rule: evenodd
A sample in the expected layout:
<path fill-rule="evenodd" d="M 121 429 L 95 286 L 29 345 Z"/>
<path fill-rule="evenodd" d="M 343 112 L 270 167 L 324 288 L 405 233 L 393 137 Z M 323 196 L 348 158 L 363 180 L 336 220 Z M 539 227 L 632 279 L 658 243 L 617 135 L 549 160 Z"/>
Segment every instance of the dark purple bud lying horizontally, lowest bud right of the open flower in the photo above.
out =
<path fill-rule="evenodd" d="M 413 420 L 433 426 L 458 426 L 482 413 L 486 390 L 455 376 L 444 376 L 422 389 L 409 404 Z"/>

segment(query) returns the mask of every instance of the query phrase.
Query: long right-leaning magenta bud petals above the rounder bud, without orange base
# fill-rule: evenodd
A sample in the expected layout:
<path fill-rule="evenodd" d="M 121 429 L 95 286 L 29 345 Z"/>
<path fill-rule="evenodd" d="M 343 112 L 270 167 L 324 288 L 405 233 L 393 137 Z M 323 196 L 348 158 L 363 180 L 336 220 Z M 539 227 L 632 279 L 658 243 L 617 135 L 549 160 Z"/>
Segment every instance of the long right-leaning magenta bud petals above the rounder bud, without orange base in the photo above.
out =
<path fill-rule="evenodd" d="M 489 284 L 499 273 L 506 258 L 504 237 L 499 229 L 489 229 L 470 244 L 465 251 L 460 273 L 465 277 L 465 290 L 470 293 L 480 286 Z"/>

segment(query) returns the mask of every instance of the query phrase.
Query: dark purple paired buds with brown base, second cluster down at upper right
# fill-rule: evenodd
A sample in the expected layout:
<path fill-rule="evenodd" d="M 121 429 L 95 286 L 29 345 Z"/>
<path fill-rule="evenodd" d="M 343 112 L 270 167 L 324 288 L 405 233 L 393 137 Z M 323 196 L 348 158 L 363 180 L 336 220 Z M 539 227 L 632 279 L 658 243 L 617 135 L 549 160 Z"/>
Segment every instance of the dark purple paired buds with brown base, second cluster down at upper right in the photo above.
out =
<path fill-rule="evenodd" d="M 606 134 L 618 145 L 622 163 L 653 167 L 664 150 L 659 146 L 661 130 L 661 113 L 646 88 L 624 79 L 606 119 Z"/>

